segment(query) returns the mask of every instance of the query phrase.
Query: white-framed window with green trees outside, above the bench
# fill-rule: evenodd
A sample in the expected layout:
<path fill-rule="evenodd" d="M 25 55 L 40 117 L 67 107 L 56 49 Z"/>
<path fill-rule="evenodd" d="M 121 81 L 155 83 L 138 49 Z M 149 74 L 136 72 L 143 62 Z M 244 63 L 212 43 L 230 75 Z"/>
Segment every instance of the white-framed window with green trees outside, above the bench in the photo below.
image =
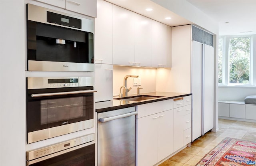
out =
<path fill-rule="evenodd" d="M 220 85 L 255 85 L 252 83 L 252 36 L 224 36 L 218 40 L 218 83 Z"/>

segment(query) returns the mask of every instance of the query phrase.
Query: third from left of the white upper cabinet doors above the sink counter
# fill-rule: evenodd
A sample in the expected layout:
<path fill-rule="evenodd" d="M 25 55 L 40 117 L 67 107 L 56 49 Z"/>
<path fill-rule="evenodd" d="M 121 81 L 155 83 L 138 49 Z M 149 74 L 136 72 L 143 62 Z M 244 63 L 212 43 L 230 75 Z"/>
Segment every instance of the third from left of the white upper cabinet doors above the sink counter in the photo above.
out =
<path fill-rule="evenodd" d="M 134 15 L 135 21 L 135 65 L 151 67 L 152 61 L 152 24 L 151 19 Z"/>

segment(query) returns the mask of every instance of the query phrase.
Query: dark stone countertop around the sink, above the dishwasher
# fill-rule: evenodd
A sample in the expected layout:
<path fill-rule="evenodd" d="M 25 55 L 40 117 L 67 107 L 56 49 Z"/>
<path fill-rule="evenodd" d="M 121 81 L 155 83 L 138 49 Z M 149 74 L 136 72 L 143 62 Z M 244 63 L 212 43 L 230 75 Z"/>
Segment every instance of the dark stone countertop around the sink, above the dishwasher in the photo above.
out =
<path fill-rule="evenodd" d="M 125 100 L 117 100 L 113 99 L 110 101 L 102 101 L 95 103 L 95 109 L 97 113 L 102 113 L 106 111 L 112 111 L 116 109 L 123 109 L 128 107 L 134 107 L 136 105 L 152 103 L 156 101 L 163 101 L 168 99 L 173 99 L 176 97 L 184 97 L 189 96 L 191 93 L 174 93 L 174 92 L 149 92 L 149 93 L 141 93 L 140 95 L 148 95 L 148 96 L 161 96 L 154 99 L 142 100 L 142 101 L 125 101 Z M 136 97 L 136 95 L 131 95 Z M 118 98 L 118 97 L 114 97 Z"/>

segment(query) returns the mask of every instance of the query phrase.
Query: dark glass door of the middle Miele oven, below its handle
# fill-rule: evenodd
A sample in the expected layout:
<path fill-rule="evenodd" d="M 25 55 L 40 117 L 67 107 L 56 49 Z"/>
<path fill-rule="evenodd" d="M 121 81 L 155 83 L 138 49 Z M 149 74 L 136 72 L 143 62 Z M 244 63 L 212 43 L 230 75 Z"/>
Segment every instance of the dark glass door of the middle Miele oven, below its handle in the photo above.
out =
<path fill-rule="evenodd" d="M 93 93 L 47 96 L 27 104 L 27 132 L 93 119 Z"/>

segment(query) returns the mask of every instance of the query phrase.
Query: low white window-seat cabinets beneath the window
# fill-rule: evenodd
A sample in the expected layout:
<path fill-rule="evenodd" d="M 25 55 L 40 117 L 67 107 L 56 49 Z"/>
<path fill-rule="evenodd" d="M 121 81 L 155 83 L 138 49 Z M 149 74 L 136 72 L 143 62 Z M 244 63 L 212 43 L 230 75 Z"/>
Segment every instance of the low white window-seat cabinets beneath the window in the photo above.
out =
<path fill-rule="evenodd" d="M 256 120 L 256 105 L 244 104 L 244 102 L 223 102 L 218 103 L 218 116 Z"/>

